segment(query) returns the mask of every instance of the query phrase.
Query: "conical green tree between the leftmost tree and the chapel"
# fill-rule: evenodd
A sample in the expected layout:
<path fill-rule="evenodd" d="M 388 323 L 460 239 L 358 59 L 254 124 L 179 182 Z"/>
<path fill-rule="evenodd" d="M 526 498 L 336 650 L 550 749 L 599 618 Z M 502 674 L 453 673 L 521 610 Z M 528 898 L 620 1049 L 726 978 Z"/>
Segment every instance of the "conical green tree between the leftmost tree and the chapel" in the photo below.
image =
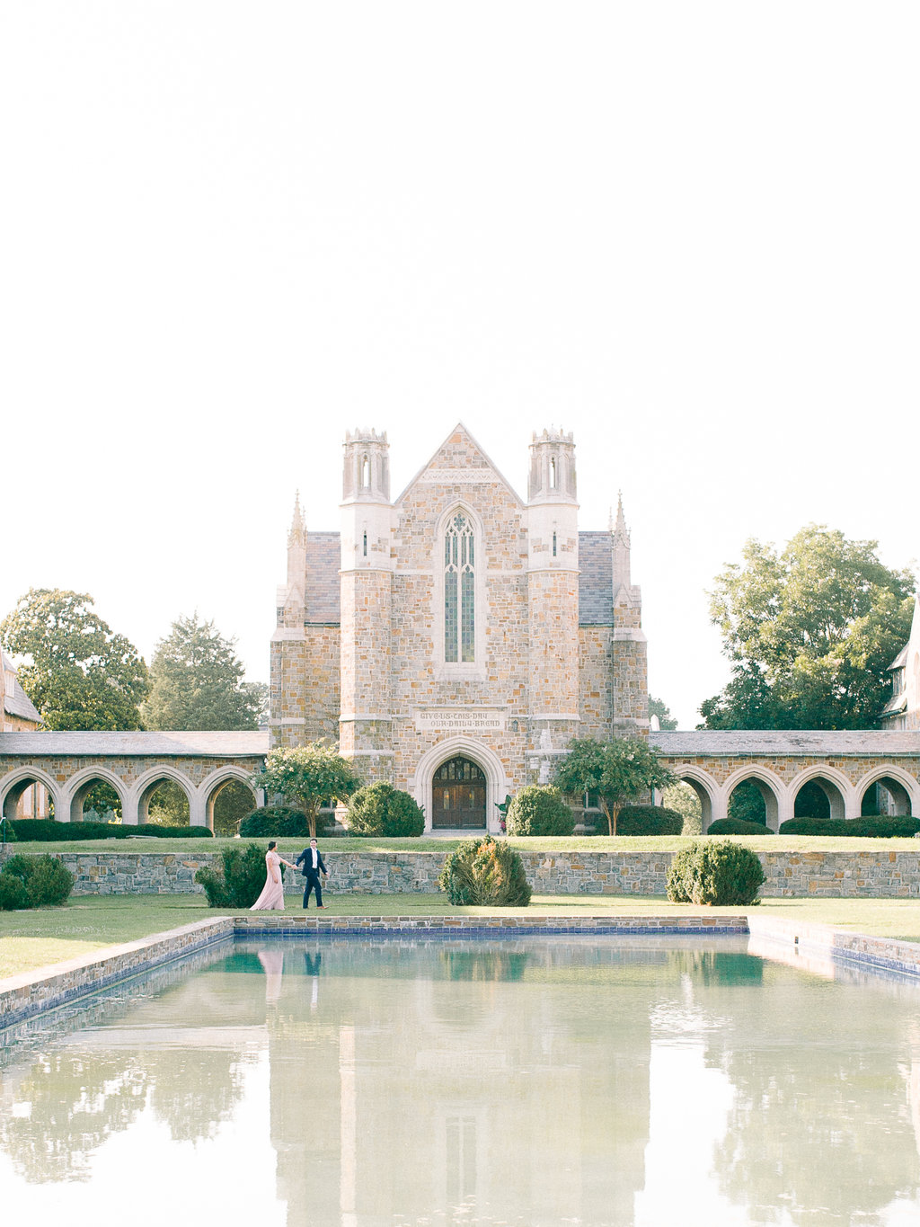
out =
<path fill-rule="evenodd" d="M 178 617 L 157 643 L 144 704 L 150 729 L 256 729 L 265 687 L 243 681 L 236 639 L 213 622 Z"/>

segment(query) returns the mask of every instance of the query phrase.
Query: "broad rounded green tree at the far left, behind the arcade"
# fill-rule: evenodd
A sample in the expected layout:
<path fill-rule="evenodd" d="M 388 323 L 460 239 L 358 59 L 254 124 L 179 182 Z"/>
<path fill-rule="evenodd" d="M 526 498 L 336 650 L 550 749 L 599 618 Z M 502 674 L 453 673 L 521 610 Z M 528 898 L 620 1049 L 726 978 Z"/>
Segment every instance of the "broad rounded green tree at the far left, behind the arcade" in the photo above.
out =
<path fill-rule="evenodd" d="M 117 634 L 86 593 L 31 588 L 0 623 L 22 659 L 22 688 L 47 729 L 142 729 L 150 682 L 137 649 Z"/>

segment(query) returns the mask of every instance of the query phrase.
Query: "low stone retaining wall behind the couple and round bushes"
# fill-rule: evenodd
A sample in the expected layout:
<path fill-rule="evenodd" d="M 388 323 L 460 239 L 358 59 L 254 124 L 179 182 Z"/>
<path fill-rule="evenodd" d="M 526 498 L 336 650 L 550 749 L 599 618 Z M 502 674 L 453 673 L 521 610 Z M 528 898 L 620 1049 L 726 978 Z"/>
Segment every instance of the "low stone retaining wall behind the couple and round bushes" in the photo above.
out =
<path fill-rule="evenodd" d="M 883 842 L 880 840 L 880 844 Z M 918 840 L 920 844 L 920 840 Z M 326 845 L 332 893 L 437 894 L 445 853 L 336 853 Z M 213 853 L 54 850 L 76 877 L 75 894 L 200 893 L 195 872 Z M 537 894 L 665 894 L 670 852 L 524 852 L 527 880 Z M 910 898 L 920 896 L 920 847 L 865 852 L 758 853 L 764 898 Z M 2 858 L 0 858 L 0 861 Z M 287 872 L 286 893 L 303 890 Z"/>

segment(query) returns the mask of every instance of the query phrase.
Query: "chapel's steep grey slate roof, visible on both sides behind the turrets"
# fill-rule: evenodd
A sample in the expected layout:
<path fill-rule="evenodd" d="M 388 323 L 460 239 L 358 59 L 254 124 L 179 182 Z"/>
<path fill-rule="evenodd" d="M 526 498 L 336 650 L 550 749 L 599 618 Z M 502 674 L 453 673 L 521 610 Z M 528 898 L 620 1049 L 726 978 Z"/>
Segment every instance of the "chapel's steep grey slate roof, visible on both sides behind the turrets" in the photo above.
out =
<path fill-rule="evenodd" d="M 613 591 L 610 533 L 578 534 L 579 580 L 578 621 L 581 626 L 613 625 Z M 337 533 L 310 533 L 307 536 L 307 616 L 308 625 L 339 626 L 340 545 Z"/>

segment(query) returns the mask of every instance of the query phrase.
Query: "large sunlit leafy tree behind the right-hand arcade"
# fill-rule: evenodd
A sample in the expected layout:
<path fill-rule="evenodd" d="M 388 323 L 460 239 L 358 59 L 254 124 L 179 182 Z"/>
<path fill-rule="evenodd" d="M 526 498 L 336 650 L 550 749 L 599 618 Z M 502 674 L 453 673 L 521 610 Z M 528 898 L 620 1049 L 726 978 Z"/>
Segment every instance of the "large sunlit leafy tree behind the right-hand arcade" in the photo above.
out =
<path fill-rule="evenodd" d="M 888 665 L 910 633 L 915 577 L 877 541 L 819 524 L 781 553 L 751 539 L 716 577 L 713 622 L 731 680 L 700 706 L 707 729 L 868 729 L 891 697 Z"/>

